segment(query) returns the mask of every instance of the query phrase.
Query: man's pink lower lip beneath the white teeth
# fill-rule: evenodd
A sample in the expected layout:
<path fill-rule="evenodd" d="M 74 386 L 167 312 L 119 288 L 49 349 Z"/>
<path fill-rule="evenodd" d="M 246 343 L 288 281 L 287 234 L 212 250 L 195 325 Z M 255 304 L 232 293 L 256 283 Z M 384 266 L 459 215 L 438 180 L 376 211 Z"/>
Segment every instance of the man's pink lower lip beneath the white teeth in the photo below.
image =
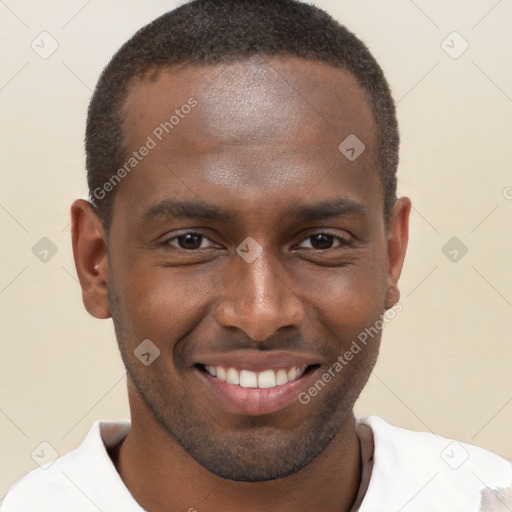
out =
<path fill-rule="evenodd" d="M 207 388 L 228 412 L 259 416 L 272 414 L 298 402 L 298 395 L 307 388 L 307 382 L 316 368 L 309 368 L 298 379 L 273 388 L 243 388 L 228 384 L 209 373 L 196 369 Z"/>

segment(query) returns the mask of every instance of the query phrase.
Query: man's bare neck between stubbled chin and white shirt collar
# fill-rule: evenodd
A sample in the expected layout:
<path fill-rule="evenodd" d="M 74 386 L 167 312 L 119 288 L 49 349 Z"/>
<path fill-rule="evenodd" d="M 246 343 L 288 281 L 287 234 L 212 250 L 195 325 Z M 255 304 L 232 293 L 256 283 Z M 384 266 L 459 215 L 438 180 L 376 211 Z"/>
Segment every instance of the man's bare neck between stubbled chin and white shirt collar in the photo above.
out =
<path fill-rule="evenodd" d="M 130 400 L 130 433 L 112 459 L 133 497 L 148 512 L 348 512 L 354 503 L 362 468 L 353 414 L 324 451 L 297 473 L 266 482 L 235 482 L 200 466 L 140 399 L 135 402 Z"/>

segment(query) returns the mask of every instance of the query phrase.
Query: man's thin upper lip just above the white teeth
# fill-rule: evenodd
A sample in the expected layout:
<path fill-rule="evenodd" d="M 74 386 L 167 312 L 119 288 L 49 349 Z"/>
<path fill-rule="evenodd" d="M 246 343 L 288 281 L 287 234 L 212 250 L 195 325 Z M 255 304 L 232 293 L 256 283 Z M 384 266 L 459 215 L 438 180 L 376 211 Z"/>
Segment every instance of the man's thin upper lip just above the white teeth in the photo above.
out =
<path fill-rule="evenodd" d="M 222 366 L 224 368 L 262 372 L 293 366 L 318 365 L 320 361 L 311 354 L 301 352 L 244 350 L 226 354 L 205 355 L 199 358 L 197 363 L 204 366 Z"/>

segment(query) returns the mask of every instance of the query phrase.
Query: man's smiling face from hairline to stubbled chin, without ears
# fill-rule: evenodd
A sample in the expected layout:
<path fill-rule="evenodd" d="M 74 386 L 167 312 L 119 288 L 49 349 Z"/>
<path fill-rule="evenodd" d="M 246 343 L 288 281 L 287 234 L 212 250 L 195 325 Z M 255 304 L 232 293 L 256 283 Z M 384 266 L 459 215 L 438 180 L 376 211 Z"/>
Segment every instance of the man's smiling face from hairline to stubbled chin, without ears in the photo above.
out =
<path fill-rule="evenodd" d="M 116 188 L 109 238 L 133 421 L 153 414 L 224 478 L 291 474 L 351 419 L 380 336 L 307 405 L 299 394 L 389 307 L 364 94 L 344 70 L 252 60 L 138 80 L 124 117 L 127 159 L 154 146 Z M 365 145 L 353 161 L 338 149 L 350 134 Z"/>

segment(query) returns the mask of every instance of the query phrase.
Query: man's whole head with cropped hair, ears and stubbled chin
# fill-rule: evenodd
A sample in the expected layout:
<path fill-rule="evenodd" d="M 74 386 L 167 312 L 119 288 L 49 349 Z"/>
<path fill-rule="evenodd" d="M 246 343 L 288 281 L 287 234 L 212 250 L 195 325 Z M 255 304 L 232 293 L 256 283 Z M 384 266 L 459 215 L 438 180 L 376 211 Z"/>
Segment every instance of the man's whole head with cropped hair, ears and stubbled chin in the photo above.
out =
<path fill-rule="evenodd" d="M 114 320 L 132 420 L 224 478 L 306 466 L 350 421 L 380 332 L 298 395 L 398 301 L 407 245 L 395 111 L 368 49 L 292 0 L 190 2 L 113 57 L 86 150 L 75 260 L 86 308 Z M 208 373 L 294 366 L 251 403 Z"/>

